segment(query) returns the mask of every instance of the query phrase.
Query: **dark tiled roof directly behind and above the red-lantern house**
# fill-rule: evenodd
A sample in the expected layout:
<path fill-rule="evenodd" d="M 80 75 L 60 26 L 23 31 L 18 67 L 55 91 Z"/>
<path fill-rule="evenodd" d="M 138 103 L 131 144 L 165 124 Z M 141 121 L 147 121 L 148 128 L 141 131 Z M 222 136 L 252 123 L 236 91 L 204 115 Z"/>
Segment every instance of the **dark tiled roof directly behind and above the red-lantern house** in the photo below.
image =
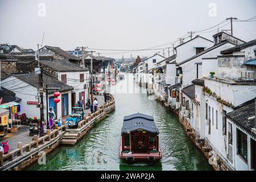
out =
<path fill-rule="evenodd" d="M 88 68 L 81 68 L 77 64 L 73 64 L 68 60 L 40 60 L 40 64 L 46 65 L 59 72 L 81 72 L 89 71 Z"/>

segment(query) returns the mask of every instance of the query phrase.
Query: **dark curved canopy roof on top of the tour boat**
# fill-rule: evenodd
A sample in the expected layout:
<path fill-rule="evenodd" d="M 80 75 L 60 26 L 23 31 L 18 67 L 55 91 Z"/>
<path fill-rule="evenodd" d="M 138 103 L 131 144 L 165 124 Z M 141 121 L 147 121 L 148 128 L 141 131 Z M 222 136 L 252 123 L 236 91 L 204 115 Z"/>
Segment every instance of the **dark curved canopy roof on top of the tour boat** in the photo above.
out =
<path fill-rule="evenodd" d="M 146 114 L 131 114 L 123 117 L 122 134 L 131 133 L 134 131 L 146 131 L 152 134 L 159 134 L 155 126 L 154 118 Z"/>

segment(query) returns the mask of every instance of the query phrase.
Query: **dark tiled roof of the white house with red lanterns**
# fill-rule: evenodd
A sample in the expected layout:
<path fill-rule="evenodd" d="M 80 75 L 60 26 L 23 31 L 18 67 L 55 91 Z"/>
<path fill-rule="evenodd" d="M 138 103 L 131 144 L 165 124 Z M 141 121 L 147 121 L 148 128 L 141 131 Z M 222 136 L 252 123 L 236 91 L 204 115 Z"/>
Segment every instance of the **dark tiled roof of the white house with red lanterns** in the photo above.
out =
<path fill-rule="evenodd" d="M 15 74 L 13 75 L 20 80 L 26 82 L 27 84 L 30 84 L 32 86 L 35 86 L 36 88 L 40 87 L 40 80 L 39 80 L 39 74 L 38 73 L 24 73 L 24 74 Z M 50 88 L 60 88 L 59 92 L 63 92 L 66 90 L 73 90 L 72 86 L 69 86 L 67 84 L 64 84 L 63 82 L 57 80 L 56 78 L 53 78 L 45 73 L 43 73 L 43 82 L 44 86 L 48 85 Z M 49 90 L 48 93 L 53 93 L 55 90 Z"/>

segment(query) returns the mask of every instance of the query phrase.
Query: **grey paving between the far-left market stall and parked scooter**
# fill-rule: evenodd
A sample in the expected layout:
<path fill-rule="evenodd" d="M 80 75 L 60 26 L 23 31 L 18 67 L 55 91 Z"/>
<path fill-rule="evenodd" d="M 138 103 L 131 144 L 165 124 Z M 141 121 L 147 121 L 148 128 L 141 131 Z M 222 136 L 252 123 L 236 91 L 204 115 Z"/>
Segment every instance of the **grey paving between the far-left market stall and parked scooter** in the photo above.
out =
<path fill-rule="evenodd" d="M 32 141 L 33 137 L 30 137 L 30 127 L 27 125 L 21 125 L 19 130 L 15 133 L 9 133 L 5 137 L 0 138 L 0 142 L 8 141 L 9 144 L 9 152 L 18 148 L 18 142 L 22 142 L 22 144 L 27 144 Z"/>

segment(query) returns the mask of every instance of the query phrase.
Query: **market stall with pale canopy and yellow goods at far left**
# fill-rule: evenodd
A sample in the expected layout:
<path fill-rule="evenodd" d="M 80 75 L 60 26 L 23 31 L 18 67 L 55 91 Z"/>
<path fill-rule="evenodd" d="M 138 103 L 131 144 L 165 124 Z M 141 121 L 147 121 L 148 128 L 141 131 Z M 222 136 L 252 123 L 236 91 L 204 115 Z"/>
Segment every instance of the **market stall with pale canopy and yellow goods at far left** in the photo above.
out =
<path fill-rule="evenodd" d="M 7 102 L 5 104 L 0 105 L 0 109 L 9 110 L 9 122 L 8 129 L 12 129 L 13 127 L 20 127 L 20 119 L 18 119 L 18 112 L 20 111 L 20 104 L 17 102 Z"/>

